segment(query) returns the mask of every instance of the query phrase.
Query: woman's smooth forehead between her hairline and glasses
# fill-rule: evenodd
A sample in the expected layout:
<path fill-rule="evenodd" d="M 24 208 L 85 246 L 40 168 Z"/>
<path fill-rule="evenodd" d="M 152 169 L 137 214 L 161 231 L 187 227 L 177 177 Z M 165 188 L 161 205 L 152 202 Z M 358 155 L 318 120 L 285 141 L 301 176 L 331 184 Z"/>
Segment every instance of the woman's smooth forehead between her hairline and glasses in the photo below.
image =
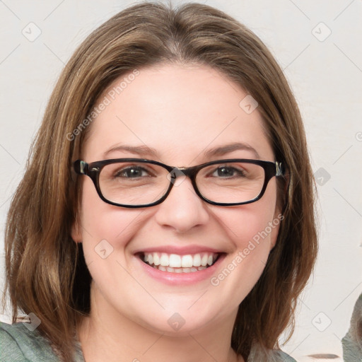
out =
<path fill-rule="evenodd" d="M 153 148 L 165 163 L 189 165 L 207 161 L 202 158 L 211 148 L 235 143 L 255 148 L 261 159 L 273 159 L 259 111 L 244 107 L 250 96 L 220 72 L 209 66 L 162 65 L 132 74 L 113 82 L 95 105 L 98 115 L 82 152 L 88 162 L 124 157 L 127 152 L 105 152 L 127 145 Z M 255 158 L 246 148 L 238 152 Z"/>

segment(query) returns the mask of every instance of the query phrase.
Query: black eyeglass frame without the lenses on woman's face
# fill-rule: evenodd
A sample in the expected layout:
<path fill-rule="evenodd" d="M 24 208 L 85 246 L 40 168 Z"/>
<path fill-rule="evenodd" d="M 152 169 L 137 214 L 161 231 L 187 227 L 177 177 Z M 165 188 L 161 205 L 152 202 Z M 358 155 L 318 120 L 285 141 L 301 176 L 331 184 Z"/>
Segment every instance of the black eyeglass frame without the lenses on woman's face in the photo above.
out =
<path fill-rule="evenodd" d="M 111 202 L 110 200 L 105 199 L 105 197 L 103 196 L 103 194 L 100 190 L 100 185 L 99 185 L 100 171 L 105 167 L 105 165 L 110 165 L 111 163 L 121 163 L 121 162 L 151 163 L 153 165 L 158 165 L 158 166 L 163 167 L 166 170 L 168 170 L 168 172 L 170 173 L 170 185 L 169 185 L 167 191 L 165 192 L 165 194 L 163 195 L 163 197 L 158 199 L 156 202 L 152 202 L 151 204 L 142 204 L 142 205 L 117 204 L 116 202 Z M 207 199 L 206 197 L 204 197 L 204 195 L 202 195 L 202 193 L 199 192 L 199 189 L 197 188 L 197 183 L 196 183 L 196 175 L 197 175 L 197 173 L 199 173 L 199 170 L 202 170 L 202 168 L 205 168 L 210 165 L 216 165 L 218 163 L 235 163 L 235 162 L 253 163 L 255 165 L 261 166 L 264 169 L 264 175 L 265 175 L 264 185 L 257 197 L 255 197 L 254 199 L 249 200 L 247 202 L 223 203 L 223 202 L 213 202 L 213 201 Z M 97 190 L 97 193 L 98 193 L 100 199 L 102 199 L 104 202 L 106 202 L 107 204 L 114 205 L 114 206 L 127 207 L 127 208 L 132 208 L 132 209 L 156 206 L 156 205 L 160 204 L 161 202 L 164 202 L 165 199 L 170 194 L 176 178 L 180 175 L 185 175 L 185 176 L 189 177 L 196 194 L 202 200 L 204 200 L 204 202 L 207 202 L 208 204 L 216 205 L 216 206 L 236 206 L 236 205 L 251 204 L 252 202 L 256 202 L 257 200 L 262 198 L 265 190 L 267 189 L 267 185 L 272 177 L 284 176 L 284 173 L 285 173 L 285 168 L 281 162 L 278 162 L 278 161 L 271 162 L 271 161 L 264 161 L 264 160 L 250 160 L 250 159 L 244 159 L 244 158 L 230 158 L 227 160 L 214 160 L 214 161 L 211 161 L 208 163 L 202 163 L 202 165 L 192 166 L 189 168 L 177 168 L 177 167 L 165 165 L 164 163 L 160 163 L 155 160 L 146 160 L 143 158 L 112 158 L 110 160 L 100 160 L 100 161 L 95 161 L 92 163 L 86 163 L 83 160 L 76 160 L 73 163 L 73 168 L 74 168 L 74 171 L 76 172 L 76 174 L 86 175 L 91 178 L 91 180 L 93 181 L 93 183 L 95 185 L 95 189 Z M 177 173 L 177 171 L 180 171 L 180 173 Z"/>

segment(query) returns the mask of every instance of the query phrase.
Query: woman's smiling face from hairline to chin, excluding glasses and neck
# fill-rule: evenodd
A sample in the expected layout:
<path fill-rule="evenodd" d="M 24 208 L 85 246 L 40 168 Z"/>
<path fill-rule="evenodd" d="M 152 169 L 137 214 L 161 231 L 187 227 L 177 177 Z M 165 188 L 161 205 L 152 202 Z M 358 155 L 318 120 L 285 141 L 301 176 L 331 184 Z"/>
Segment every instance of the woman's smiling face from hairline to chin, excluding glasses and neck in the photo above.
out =
<path fill-rule="evenodd" d="M 81 156 L 87 163 L 147 158 L 189 167 L 227 158 L 274 161 L 258 109 L 250 112 L 254 104 L 248 107 L 250 98 L 243 100 L 247 93 L 218 71 L 163 65 L 122 78 L 127 80 L 122 88 L 114 88 L 118 79 L 99 100 L 107 105 L 98 107 L 104 109 L 89 126 Z M 230 144 L 240 147 L 227 148 Z M 206 156 L 216 148 L 223 149 Z M 91 179 L 82 177 L 79 224 L 72 236 L 83 242 L 93 277 L 92 308 L 115 323 L 127 319 L 180 334 L 233 324 L 238 305 L 267 263 L 279 221 L 276 177 L 252 204 L 207 204 L 185 178 L 164 202 L 141 209 L 103 202 Z M 206 269 L 173 271 L 141 259 L 163 253 L 165 260 L 176 255 L 171 258 L 196 265 L 205 255 L 218 259 Z"/>

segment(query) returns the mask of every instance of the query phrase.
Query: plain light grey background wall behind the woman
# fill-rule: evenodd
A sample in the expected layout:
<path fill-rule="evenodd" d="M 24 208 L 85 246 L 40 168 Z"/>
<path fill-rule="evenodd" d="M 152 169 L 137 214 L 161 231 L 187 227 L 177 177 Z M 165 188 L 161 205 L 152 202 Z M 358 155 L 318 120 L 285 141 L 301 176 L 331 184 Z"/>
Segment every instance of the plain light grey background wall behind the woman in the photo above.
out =
<path fill-rule="evenodd" d="M 226 11 L 262 38 L 300 105 L 320 183 L 320 255 L 300 298 L 296 332 L 284 351 L 298 361 L 311 361 L 306 355 L 315 353 L 341 356 L 340 340 L 362 292 L 362 1 L 203 2 Z M 0 0 L 2 254 L 11 195 L 59 72 L 91 30 L 134 3 Z M 36 26 L 28 25 L 31 22 Z M 33 40 L 37 28 L 41 34 Z M 3 270 L 2 259 L 0 267 Z M 3 286 L 1 271 L 1 290 Z M 8 320 L 8 315 L 0 317 Z"/>

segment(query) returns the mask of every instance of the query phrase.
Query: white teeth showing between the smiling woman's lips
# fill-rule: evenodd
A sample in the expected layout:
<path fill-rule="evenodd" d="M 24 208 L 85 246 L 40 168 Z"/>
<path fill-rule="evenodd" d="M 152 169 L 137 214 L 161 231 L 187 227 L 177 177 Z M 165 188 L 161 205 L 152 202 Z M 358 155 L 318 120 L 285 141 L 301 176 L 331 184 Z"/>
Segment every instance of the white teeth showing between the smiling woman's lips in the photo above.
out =
<path fill-rule="evenodd" d="M 141 260 L 154 269 L 170 273 L 194 273 L 214 265 L 221 253 L 201 252 L 193 255 L 177 255 L 165 252 L 144 252 Z"/>

